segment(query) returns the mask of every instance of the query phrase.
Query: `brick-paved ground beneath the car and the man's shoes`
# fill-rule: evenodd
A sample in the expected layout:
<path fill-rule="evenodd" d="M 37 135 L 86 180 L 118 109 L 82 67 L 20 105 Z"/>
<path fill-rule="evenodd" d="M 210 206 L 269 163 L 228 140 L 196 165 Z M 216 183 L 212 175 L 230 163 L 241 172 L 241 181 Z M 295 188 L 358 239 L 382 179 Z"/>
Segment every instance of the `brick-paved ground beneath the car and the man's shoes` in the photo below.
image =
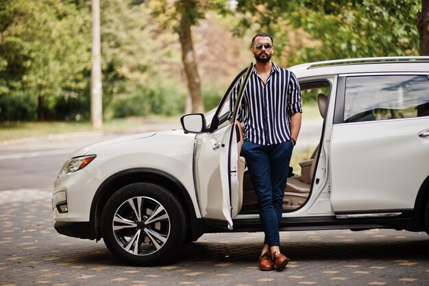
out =
<path fill-rule="evenodd" d="M 282 233 L 283 272 L 261 272 L 261 233 L 204 235 L 163 267 L 130 267 L 103 241 L 58 235 L 49 190 L 0 192 L 0 285 L 429 285 L 429 237 L 395 230 Z"/>

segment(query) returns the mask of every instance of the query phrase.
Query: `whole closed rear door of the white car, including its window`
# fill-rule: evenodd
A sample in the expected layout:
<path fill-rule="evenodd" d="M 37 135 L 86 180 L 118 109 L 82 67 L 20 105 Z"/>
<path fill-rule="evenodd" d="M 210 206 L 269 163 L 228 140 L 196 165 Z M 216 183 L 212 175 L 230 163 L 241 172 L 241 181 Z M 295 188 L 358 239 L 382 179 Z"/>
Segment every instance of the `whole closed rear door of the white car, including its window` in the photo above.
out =
<path fill-rule="evenodd" d="M 357 84 L 351 84 L 350 94 L 355 96 L 349 97 L 348 105 L 347 89 L 341 92 L 339 84 L 337 96 L 346 99 L 337 99 L 340 116 L 332 128 L 335 212 L 414 208 L 417 192 L 429 175 L 429 140 L 424 138 L 429 117 L 415 111 L 427 104 L 428 82 L 421 75 L 403 78 L 397 74 L 353 78 Z M 370 84 L 361 84 L 365 80 Z M 409 84 L 412 80 L 419 87 Z M 341 82 L 345 88 L 344 78 Z M 380 87 L 373 89 L 378 82 Z"/>

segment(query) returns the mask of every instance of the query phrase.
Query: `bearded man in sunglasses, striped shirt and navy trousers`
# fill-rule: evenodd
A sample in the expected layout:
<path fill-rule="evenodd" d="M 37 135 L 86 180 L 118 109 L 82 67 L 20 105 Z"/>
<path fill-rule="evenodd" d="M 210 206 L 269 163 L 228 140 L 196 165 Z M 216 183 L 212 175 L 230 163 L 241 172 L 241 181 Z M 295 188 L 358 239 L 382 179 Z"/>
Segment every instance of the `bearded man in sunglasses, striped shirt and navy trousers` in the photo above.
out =
<path fill-rule="evenodd" d="M 295 75 L 271 62 L 273 38 L 259 33 L 252 39 L 256 64 L 245 86 L 238 128 L 243 126 L 241 154 L 258 197 L 265 233 L 260 270 L 281 271 L 289 259 L 280 253 L 279 227 L 293 146 L 301 128 L 301 92 Z M 236 93 L 240 85 L 236 88 Z M 232 96 L 231 110 L 235 96 Z M 243 139 L 242 139 L 243 140 Z"/>

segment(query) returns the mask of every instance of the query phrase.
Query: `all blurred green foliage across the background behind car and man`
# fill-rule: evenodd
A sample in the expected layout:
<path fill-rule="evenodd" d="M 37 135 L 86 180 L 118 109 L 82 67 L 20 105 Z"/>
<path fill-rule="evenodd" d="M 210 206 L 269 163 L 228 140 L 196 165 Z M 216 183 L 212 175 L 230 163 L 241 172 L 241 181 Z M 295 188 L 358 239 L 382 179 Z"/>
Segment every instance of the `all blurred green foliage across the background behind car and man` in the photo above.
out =
<path fill-rule="evenodd" d="M 273 34 L 274 61 L 282 67 L 418 54 L 415 19 L 421 0 L 233 3 L 101 1 L 104 116 L 183 112 L 187 92 L 177 34 L 181 12 L 195 24 L 206 110 L 219 103 L 243 59 L 253 60 L 243 54 L 249 38 L 262 30 Z M 219 14 L 225 17 L 219 19 Z M 89 118 L 91 22 L 86 0 L 2 0 L 0 121 L 36 119 L 38 97 L 45 99 L 46 119 Z M 228 29 L 240 37 L 226 35 Z"/>

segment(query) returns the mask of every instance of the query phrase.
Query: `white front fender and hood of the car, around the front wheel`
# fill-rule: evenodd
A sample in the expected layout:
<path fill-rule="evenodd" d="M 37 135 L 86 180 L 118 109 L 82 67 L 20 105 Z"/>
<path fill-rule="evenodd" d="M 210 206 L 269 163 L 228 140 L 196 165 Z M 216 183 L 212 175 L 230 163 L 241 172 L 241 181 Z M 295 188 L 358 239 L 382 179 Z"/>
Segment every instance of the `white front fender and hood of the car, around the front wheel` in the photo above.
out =
<path fill-rule="evenodd" d="M 82 198 L 94 198 L 103 182 L 130 169 L 157 169 L 174 176 L 186 189 L 193 189 L 193 178 L 189 174 L 193 171 L 194 137 L 184 134 L 182 130 L 139 134 L 95 143 L 73 152 L 71 158 L 97 154 L 99 162 L 97 165 L 89 164 L 80 174 L 66 174 L 54 182 L 54 194 L 65 191 L 69 205 L 69 212 L 64 214 L 54 208 L 55 217 L 61 217 L 64 222 L 88 221 L 93 202 Z M 172 142 L 174 148 L 171 148 Z M 142 162 L 145 164 L 142 165 Z M 195 196 L 191 196 L 191 199 L 197 208 Z"/>

